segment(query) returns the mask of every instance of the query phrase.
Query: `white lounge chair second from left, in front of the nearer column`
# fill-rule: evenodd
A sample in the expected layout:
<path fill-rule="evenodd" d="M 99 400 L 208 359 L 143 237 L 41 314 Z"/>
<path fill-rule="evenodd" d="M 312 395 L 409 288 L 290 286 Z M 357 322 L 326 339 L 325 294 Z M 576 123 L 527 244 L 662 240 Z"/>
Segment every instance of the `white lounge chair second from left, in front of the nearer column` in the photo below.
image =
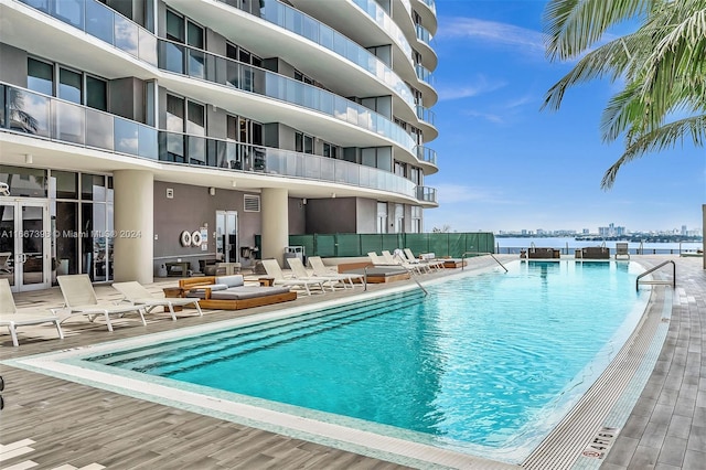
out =
<path fill-rule="evenodd" d="M 113 324 L 110 323 L 111 314 L 122 317 L 126 313 L 137 312 L 142 320 L 142 324 L 147 325 L 145 316 L 142 314 L 142 306 L 98 303 L 88 275 L 56 276 L 56 280 L 58 281 L 58 287 L 62 289 L 62 296 L 64 296 L 64 307 L 52 309 L 52 311 L 54 313 L 58 313 L 60 311 L 68 313 L 62 321 L 82 314 L 88 317 L 88 320 L 93 322 L 96 317 L 104 316 L 108 331 L 113 331 Z"/>

